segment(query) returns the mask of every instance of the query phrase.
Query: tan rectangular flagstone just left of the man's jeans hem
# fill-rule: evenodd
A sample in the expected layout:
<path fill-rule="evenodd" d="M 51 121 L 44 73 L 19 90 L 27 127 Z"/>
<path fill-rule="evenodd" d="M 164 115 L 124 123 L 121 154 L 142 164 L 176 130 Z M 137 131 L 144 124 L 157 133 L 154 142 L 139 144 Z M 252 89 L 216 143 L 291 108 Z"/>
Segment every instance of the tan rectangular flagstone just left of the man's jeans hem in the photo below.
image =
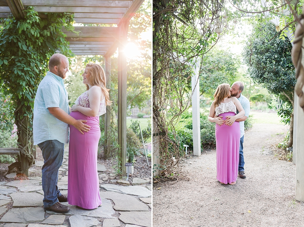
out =
<path fill-rule="evenodd" d="M 31 192 L 16 192 L 11 194 L 13 207 L 41 207 L 43 195 Z"/>

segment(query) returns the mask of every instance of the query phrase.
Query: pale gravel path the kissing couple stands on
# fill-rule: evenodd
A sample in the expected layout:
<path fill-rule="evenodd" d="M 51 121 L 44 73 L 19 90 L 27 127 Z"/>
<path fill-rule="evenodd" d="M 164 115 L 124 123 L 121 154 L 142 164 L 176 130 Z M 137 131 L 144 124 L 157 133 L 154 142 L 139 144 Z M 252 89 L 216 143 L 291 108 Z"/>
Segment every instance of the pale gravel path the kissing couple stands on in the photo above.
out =
<path fill-rule="evenodd" d="M 304 203 L 295 200 L 295 165 L 271 151 L 288 126 L 254 124 L 245 132 L 246 179 L 221 185 L 216 151 L 182 162 L 190 180 L 153 183 L 153 227 L 304 226 Z M 160 188 L 160 189 L 159 189 Z"/>

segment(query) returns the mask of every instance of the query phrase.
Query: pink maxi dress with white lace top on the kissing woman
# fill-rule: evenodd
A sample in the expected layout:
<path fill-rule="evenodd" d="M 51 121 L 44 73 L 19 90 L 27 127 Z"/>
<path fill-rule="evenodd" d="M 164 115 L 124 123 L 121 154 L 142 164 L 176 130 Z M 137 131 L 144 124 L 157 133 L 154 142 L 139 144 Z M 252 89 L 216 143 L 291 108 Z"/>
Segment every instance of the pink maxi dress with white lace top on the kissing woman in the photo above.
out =
<path fill-rule="evenodd" d="M 226 116 L 236 115 L 236 106 L 232 101 L 221 103 L 215 108 L 215 114 L 225 120 Z M 217 180 L 224 184 L 236 182 L 238 177 L 240 136 L 239 122 L 232 126 L 216 124 Z"/>

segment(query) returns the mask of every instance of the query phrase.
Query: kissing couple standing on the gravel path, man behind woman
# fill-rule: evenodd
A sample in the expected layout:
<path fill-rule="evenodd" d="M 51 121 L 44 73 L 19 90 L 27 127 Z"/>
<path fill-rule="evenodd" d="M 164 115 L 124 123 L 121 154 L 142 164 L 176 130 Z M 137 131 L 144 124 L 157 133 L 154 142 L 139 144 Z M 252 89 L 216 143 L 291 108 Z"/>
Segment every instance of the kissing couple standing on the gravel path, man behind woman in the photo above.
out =
<path fill-rule="evenodd" d="M 217 149 L 217 180 L 221 184 L 235 185 L 239 173 L 244 172 L 244 121 L 250 112 L 250 102 L 242 95 L 244 85 L 235 82 L 220 84 L 214 94 L 208 120 L 215 122 Z"/>

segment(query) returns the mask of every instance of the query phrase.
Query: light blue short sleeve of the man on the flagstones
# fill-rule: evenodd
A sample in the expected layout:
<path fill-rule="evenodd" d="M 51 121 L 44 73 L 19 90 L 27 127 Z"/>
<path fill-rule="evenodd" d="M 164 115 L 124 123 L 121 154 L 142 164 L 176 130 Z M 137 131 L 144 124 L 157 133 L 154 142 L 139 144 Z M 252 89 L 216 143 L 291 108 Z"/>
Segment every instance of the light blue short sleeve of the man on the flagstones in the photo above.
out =
<path fill-rule="evenodd" d="M 45 83 L 41 87 L 41 93 L 45 107 L 59 107 L 60 91 L 58 85 L 54 83 Z"/>

